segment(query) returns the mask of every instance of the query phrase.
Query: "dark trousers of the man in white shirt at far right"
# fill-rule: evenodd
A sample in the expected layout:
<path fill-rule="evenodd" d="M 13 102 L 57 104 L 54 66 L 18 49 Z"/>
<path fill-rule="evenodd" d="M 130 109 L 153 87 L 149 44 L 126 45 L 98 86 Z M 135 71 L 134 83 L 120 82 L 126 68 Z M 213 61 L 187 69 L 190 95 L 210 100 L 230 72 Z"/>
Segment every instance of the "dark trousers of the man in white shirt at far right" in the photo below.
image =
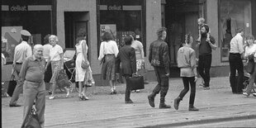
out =
<path fill-rule="evenodd" d="M 243 78 L 244 78 L 244 65 L 240 54 L 230 53 L 230 86 L 232 92 L 243 92 Z M 236 70 L 238 71 L 238 78 L 236 83 Z"/>

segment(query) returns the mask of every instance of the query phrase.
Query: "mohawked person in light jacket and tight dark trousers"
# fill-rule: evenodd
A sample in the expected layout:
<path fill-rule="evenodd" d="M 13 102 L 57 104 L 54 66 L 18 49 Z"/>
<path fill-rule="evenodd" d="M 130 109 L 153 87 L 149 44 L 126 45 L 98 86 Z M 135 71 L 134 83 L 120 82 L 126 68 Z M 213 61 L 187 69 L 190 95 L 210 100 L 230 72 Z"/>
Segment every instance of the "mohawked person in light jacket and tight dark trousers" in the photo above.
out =
<path fill-rule="evenodd" d="M 174 99 L 174 108 L 178 110 L 179 102 L 183 100 L 183 97 L 189 91 L 190 84 L 191 92 L 188 111 L 198 111 L 198 109 L 194 107 L 197 82 L 197 60 L 196 52 L 192 49 L 193 38 L 190 34 L 185 36 L 185 43 L 186 45 L 178 50 L 177 55 L 178 68 L 180 68 L 180 76 L 183 78 L 184 89 L 180 92 L 178 97 Z"/>

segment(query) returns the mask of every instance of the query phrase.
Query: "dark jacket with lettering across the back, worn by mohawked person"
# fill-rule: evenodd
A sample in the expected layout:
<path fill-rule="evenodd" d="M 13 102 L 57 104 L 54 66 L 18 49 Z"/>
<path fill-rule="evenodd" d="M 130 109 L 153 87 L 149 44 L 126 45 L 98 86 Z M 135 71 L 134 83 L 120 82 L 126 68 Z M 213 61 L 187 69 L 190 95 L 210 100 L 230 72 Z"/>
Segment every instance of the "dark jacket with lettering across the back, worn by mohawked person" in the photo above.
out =
<path fill-rule="evenodd" d="M 164 40 L 155 40 L 149 47 L 149 63 L 154 67 L 163 67 L 169 73 L 168 45 Z"/>

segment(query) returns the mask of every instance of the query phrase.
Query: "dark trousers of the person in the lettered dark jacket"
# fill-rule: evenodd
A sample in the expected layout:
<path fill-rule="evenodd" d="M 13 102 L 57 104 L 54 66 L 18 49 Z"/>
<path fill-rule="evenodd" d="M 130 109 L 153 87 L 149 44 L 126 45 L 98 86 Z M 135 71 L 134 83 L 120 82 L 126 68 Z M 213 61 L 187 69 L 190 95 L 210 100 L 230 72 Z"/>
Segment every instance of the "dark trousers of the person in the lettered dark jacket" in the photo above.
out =
<path fill-rule="evenodd" d="M 166 96 L 168 92 L 168 76 L 166 76 L 166 72 L 164 67 L 154 67 L 154 73 L 156 75 L 158 84 L 153 90 L 154 96 L 160 92 L 160 101 L 162 100 L 164 102 L 164 97 Z"/>

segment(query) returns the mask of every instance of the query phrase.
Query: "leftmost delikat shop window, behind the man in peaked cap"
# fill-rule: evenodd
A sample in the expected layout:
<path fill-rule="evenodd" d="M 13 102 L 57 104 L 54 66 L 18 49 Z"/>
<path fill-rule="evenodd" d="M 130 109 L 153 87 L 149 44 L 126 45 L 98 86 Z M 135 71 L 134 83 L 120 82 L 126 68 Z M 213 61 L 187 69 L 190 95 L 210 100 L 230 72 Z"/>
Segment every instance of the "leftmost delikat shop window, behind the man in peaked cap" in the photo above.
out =
<path fill-rule="evenodd" d="M 2 53 L 7 64 L 12 64 L 15 46 L 21 42 L 22 29 L 31 32 L 31 46 L 42 44 L 47 34 L 52 33 L 52 2 L 3 0 L 2 12 Z"/>

